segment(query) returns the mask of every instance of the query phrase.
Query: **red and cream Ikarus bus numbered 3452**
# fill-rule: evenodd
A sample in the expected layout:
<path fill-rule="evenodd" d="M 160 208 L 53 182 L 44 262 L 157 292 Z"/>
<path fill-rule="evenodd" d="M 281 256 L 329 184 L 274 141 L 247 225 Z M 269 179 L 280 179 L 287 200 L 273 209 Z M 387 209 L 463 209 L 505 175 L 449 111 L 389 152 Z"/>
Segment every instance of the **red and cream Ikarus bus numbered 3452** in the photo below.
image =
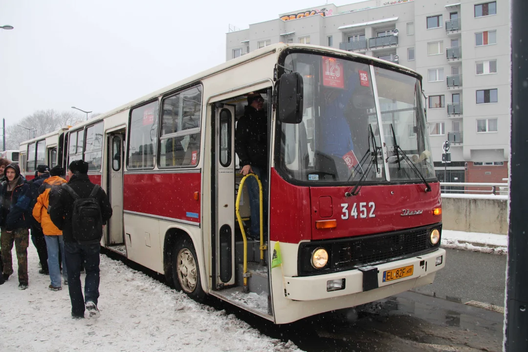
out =
<path fill-rule="evenodd" d="M 234 151 L 254 93 L 268 127 L 260 241 L 246 236 L 254 176 Z M 55 160 L 86 160 L 109 195 L 102 246 L 196 300 L 284 324 L 432 283 L 444 268 L 425 112 L 416 72 L 280 43 L 58 131 Z M 28 175 L 50 148 L 47 137 L 21 146 Z"/>

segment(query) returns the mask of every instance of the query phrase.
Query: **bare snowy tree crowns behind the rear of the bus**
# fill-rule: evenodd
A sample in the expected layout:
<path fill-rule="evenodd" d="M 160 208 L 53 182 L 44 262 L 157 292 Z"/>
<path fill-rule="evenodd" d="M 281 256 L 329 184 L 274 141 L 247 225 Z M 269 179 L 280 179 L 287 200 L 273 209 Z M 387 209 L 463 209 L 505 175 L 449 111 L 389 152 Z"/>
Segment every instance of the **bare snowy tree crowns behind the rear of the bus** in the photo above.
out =
<path fill-rule="evenodd" d="M 74 122 L 82 120 L 80 113 L 74 111 L 55 111 L 53 109 L 38 110 L 26 116 L 16 125 L 7 126 L 5 129 L 6 149 L 18 149 L 21 142 L 49 134 L 64 126 L 72 126 Z M 31 128 L 20 127 L 24 126 Z"/>

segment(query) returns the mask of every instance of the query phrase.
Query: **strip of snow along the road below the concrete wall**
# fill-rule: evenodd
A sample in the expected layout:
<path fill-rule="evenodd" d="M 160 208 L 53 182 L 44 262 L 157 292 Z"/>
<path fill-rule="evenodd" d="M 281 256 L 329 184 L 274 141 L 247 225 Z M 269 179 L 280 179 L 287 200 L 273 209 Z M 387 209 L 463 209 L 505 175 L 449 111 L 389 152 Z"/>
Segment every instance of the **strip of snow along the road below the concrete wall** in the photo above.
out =
<path fill-rule="evenodd" d="M 506 254 L 508 251 L 508 236 L 493 233 L 442 230 L 442 247 L 491 254 Z"/>

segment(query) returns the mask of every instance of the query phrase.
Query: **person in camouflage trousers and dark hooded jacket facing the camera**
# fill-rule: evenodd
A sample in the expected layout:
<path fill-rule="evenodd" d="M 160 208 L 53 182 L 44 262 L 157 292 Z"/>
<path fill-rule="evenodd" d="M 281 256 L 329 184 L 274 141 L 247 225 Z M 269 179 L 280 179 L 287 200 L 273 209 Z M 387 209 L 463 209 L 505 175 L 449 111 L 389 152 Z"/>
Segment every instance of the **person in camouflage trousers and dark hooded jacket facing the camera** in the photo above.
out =
<path fill-rule="evenodd" d="M 7 180 L 0 187 L 0 204 L 2 217 L 0 218 L 0 243 L 2 246 L 2 261 L 4 262 L 3 277 L 8 280 L 13 273 L 13 259 L 11 250 L 15 244 L 18 260 L 18 289 L 25 290 L 29 280 L 27 278 L 27 246 L 29 245 L 29 224 L 26 218 L 30 212 L 30 186 L 20 175 L 18 164 L 10 164 L 4 170 Z"/>

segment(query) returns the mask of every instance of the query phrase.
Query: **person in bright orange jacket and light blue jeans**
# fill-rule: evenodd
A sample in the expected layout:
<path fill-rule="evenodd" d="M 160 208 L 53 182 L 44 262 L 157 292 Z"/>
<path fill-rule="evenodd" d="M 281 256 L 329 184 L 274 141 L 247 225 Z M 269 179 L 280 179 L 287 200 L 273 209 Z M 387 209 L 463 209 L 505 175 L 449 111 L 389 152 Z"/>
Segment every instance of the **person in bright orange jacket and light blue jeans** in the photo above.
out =
<path fill-rule="evenodd" d="M 46 241 L 46 248 L 48 249 L 48 265 L 50 269 L 51 284 L 48 287 L 52 291 L 59 291 L 62 289 L 61 285 L 61 269 L 59 266 L 59 256 L 62 254 L 62 262 L 65 263 L 64 241 L 62 238 L 62 231 L 51 221 L 48 213 L 50 191 L 52 187 L 58 187 L 67 181 L 61 176 L 64 175 L 64 169 L 60 166 L 55 166 L 50 170 L 50 177 L 44 179 L 42 186 L 39 188 L 39 196 L 36 199 L 36 204 L 33 208 L 33 217 L 42 226 L 44 239 Z M 66 265 L 62 270 L 62 277 L 64 284 L 68 284 L 68 270 Z"/>

